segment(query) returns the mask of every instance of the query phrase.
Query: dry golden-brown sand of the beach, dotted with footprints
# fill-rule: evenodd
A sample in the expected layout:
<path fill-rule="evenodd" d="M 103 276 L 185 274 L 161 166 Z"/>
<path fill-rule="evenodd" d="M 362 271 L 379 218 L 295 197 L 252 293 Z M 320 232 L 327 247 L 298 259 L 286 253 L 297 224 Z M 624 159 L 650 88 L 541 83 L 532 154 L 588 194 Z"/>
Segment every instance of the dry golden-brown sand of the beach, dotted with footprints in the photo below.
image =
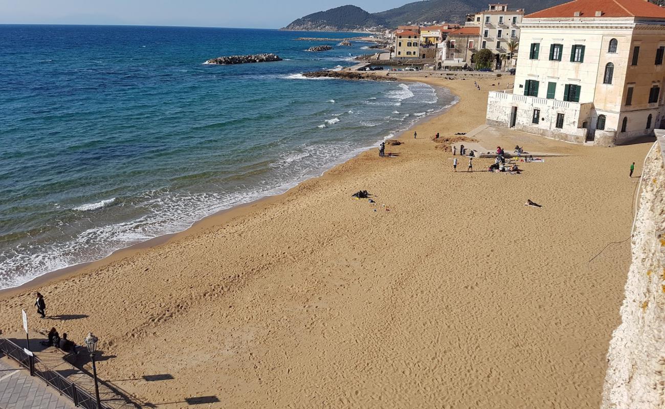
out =
<path fill-rule="evenodd" d="M 484 122 L 496 79 L 420 78 L 461 101 L 405 132 L 397 158 L 361 154 L 277 198 L 210 217 L 3 293 L 0 328 L 88 331 L 100 378 L 140 404 L 213 408 L 598 408 L 630 264 L 625 239 L 650 144 L 595 148 L 519 136 L 570 156 L 521 175 L 452 172 L 430 139 Z M 492 148 L 509 138 L 480 140 Z M 492 160 L 475 160 L 476 170 Z M 466 170 L 467 160 L 460 160 Z M 460 170 L 460 169 L 458 169 Z M 639 174 L 640 167 L 636 169 Z M 376 200 L 352 200 L 366 189 Z M 524 206 L 531 199 L 541 208 Z M 385 204 L 386 207 L 382 205 Z M 373 211 L 376 208 L 377 211 Z M 389 210 L 386 210 L 389 209 Z M 142 376 L 171 374 L 146 382 Z"/>

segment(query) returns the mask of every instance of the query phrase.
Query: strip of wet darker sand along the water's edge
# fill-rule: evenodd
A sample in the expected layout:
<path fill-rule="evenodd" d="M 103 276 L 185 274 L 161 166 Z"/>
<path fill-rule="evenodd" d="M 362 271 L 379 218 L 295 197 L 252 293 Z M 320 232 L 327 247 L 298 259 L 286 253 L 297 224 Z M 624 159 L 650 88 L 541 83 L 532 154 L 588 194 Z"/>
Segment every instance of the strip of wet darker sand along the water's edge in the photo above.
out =
<path fill-rule="evenodd" d="M 368 76 L 366 80 L 375 80 L 374 78 L 371 78 L 371 76 Z M 422 78 L 396 78 L 394 81 L 405 81 L 405 82 L 421 82 L 424 84 L 428 84 L 427 82 L 423 81 Z M 397 130 L 395 131 L 396 136 L 386 136 L 382 140 L 385 141 L 387 139 L 394 139 L 394 138 L 402 138 L 404 134 L 406 134 L 409 130 L 420 124 L 421 122 L 428 122 L 430 120 L 434 120 L 434 118 L 437 118 L 438 116 L 445 115 L 450 108 L 455 106 L 457 102 L 460 100 L 460 96 L 457 94 L 454 94 L 450 88 L 446 88 L 444 86 L 436 86 L 432 84 L 428 84 L 434 88 L 435 92 L 439 90 L 448 90 L 450 94 L 454 97 L 453 100 L 449 105 L 443 106 L 441 110 L 435 111 L 435 112 L 428 112 L 426 115 L 416 119 L 412 124 L 410 124 L 406 129 L 404 130 Z M 393 132 L 390 132 L 390 134 L 393 134 Z M 255 209 L 261 209 L 265 207 L 265 205 L 271 204 L 273 201 L 279 201 L 280 198 L 283 196 L 285 197 L 289 192 L 297 188 L 299 185 L 313 179 L 317 178 L 323 178 L 327 172 L 330 172 L 331 170 L 334 170 L 334 168 L 337 168 L 339 166 L 343 166 L 344 163 L 353 160 L 355 158 L 358 158 L 365 154 L 366 152 L 376 149 L 377 144 L 380 143 L 381 141 L 376 142 L 375 144 L 372 144 L 370 146 L 367 146 L 366 148 L 363 148 L 362 151 L 360 151 L 358 154 L 352 156 L 351 158 L 348 158 L 338 164 L 334 164 L 331 168 L 325 170 L 322 174 L 317 175 L 317 176 L 312 176 L 311 178 L 307 178 L 305 180 L 301 180 L 295 186 L 291 186 L 291 188 L 287 188 L 284 192 L 281 192 L 279 194 L 273 194 L 273 195 L 268 195 L 268 196 L 263 196 L 261 198 L 258 198 L 256 200 L 252 200 L 251 202 L 246 202 L 246 203 L 241 203 L 237 205 L 232 205 L 228 209 L 223 209 L 220 211 L 215 211 L 215 213 L 211 213 L 210 215 L 207 215 L 201 219 L 198 219 L 194 222 L 192 222 L 192 225 L 190 227 L 187 227 L 184 230 L 181 231 L 176 231 L 173 233 L 164 233 L 161 235 L 158 235 L 156 237 L 152 237 L 150 239 L 140 241 L 138 243 L 134 243 L 131 245 L 128 245 L 126 247 L 121 247 L 120 249 L 116 249 L 112 251 L 110 254 L 100 258 L 96 259 L 93 261 L 83 261 L 81 263 L 76 263 L 73 265 L 68 265 L 67 267 L 63 267 L 61 269 L 49 271 L 47 273 L 44 273 L 42 275 L 39 275 L 37 277 L 34 277 L 33 279 L 30 279 L 29 281 L 17 285 L 15 287 L 7 287 L 5 289 L 0 289 L 0 301 L 3 299 L 7 299 L 9 297 L 13 297 L 14 295 L 18 293 L 22 293 L 23 291 L 31 291 L 36 289 L 37 287 L 49 283 L 54 283 L 57 281 L 61 280 L 66 280 L 71 277 L 74 277 L 78 274 L 82 273 L 88 273 L 89 271 L 92 271 L 94 269 L 98 269 L 100 267 L 103 267 L 105 265 L 108 265 L 110 263 L 113 263 L 118 260 L 122 260 L 126 257 L 131 257 L 132 255 L 135 255 L 136 253 L 140 253 L 140 251 L 144 251 L 146 249 L 150 249 L 153 247 L 158 247 L 160 245 L 164 245 L 165 243 L 168 243 L 171 240 L 174 239 L 180 239 L 182 237 L 188 237 L 189 235 L 192 235 L 194 233 L 197 233 L 201 229 L 205 228 L 212 228 L 212 227 L 217 227 L 224 225 L 226 223 L 229 223 L 236 217 L 240 217 L 241 215 L 245 215 L 249 213 L 249 211 L 246 209 L 247 207 L 255 207 Z M 265 202 L 265 203 L 263 203 Z M 215 221 L 208 221 L 208 219 L 215 219 Z M 203 224 L 203 226 L 201 226 Z"/>

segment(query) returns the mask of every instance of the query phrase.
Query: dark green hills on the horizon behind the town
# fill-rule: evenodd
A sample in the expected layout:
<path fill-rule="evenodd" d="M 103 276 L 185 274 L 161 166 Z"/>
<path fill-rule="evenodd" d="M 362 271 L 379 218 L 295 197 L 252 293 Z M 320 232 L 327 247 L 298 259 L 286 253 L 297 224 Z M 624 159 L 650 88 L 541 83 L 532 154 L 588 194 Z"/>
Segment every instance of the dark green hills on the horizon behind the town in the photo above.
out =
<path fill-rule="evenodd" d="M 508 3 L 511 10 L 525 13 L 547 9 L 567 0 L 515 0 Z M 408 3 L 380 13 L 368 13 L 360 7 L 345 5 L 301 17 L 284 27 L 297 31 L 356 31 L 370 27 L 395 28 L 408 23 L 447 21 L 463 23 L 468 13 L 487 9 L 487 0 L 424 0 Z"/>

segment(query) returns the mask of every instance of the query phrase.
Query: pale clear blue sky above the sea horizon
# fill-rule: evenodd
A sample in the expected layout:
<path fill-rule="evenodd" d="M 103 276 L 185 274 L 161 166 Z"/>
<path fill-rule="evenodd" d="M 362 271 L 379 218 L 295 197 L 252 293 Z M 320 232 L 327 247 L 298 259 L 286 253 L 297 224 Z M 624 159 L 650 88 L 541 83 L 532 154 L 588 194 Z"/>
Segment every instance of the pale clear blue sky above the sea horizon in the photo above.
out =
<path fill-rule="evenodd" d="M 0 0 L 0 24 L 129 24 L 279 29 L 352 4 L 370 13 L 413 0 Z"/>

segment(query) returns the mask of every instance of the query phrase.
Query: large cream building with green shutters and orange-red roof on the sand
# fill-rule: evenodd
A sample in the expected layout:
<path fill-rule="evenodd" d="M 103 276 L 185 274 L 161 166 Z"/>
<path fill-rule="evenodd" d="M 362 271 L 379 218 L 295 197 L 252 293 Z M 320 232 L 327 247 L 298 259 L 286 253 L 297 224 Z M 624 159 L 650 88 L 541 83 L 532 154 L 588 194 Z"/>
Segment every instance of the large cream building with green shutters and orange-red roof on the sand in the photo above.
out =
<path fill-rule="evenodd" d="M 616 144 L 665 125 L 665 9 L 576 0 L 524 17 L 515 86 L 489 92 L 487 124 Z"/>

